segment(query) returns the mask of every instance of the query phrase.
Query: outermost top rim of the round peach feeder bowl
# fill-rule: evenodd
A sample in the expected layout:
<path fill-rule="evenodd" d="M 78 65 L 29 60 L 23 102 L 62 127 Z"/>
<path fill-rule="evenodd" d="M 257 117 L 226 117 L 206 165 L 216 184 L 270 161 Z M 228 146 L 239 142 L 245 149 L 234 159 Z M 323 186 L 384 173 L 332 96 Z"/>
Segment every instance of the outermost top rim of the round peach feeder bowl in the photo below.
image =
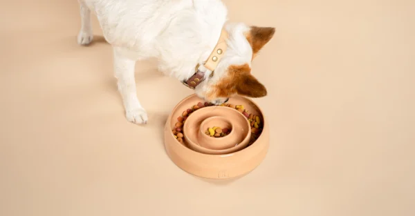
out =
<path fill-rule="evenodd" d="M 169 126 L 169 130 L 172 130 L 172 115 L 174 110 L 176 110 L 178 108 L 178 106 L 181 106 L 181 104 L 183 104 L 187 99 L 190 99 L 191 97 L 198 97 L 195 93 L 188 95 L 187 97 L 185 97 L 184 99 L 182 99 L 180 102 L 178 102 L 178 104 L 176 104 L 176 106 L 174 106 L 174 108 L 172 109 L 172 112 L 170 112 L 169 117 L 167 117 L 167 125 Z M 242 95 L 237 95 L 237 97 L 243 97 Z M 199 97 L 198 97 L 199 98 Z M 248 98 L 248 97 L 243 97 L 243 99 L 248 100 L 250 103 L 254 104 L 259 112 L 261 112 L 261 116 L 262 116 L 262 121 L 264 121 L 264 128 L 263 130 L 268 130 L 268 120 L 266 120 L 266 115 L 264 113 L 264 110 L 262 110 L 257 103 L 255 103 L 255 101 L 252 101 L 252 99 Z M 202 100 L 202 99 L 201 99 Z M 201 157 L 229 157 L 229 156 L 237 156 L 240 154 L 244 154 L 246 153 L 247 150 L 249 150 L 249 148 L 254 148 L 256 145 L 255 143 L 261 139 L 261 135 L 259 135 L 258 139 L 253 142 L 250 146 L 247 146 L 246 148 L 243 148 L 241 150 L 238 150 L 237 152 L 234 153 L 225 153 L 225 154 L 218 154 L 218 155 L 212 155 L 212 154 L 205 154 L 205 153 L 199 153 L 196 150 L 193 150 L 191 148 L 187 148 L 186 146 L 184 146 L 183 144 L 181 144 L 180 142 L 178 142 L 175 138 L 172 132 L 169 132 L 169 136 L 174 139 L 174 144 L 180 146 L 180 148 L 183 148 L 184 150 L 190 150 L 193 154 L 195 155 L 200 155 Z"/>

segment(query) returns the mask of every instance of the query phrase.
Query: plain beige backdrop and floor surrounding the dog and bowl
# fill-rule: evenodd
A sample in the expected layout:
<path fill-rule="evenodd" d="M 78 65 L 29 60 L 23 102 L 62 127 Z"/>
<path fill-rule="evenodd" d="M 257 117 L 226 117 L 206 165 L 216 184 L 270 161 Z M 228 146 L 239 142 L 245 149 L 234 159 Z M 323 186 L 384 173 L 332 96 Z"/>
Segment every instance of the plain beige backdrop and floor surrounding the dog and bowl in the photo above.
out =
<path fill-rule="evenodd" d="M 76 44 L 76 1 L 1 0 L 0 215 L 414 215 L 415 1 L 225 3 L 277 28 L 252 64 L 271 146 L 235 181 L 167 157 L 192 91 L 154 61 L 136 68 L 149 124 L 129 124 L 111 47 Z"/>

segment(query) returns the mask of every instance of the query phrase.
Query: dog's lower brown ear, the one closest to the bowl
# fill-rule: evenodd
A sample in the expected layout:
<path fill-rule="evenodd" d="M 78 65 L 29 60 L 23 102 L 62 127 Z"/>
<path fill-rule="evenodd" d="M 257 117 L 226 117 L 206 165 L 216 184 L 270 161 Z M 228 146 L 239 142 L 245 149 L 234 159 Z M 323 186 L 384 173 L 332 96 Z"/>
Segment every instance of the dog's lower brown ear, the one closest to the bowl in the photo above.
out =
<path fill-rule="evenodd" d="M 246 97 L 264 97 L 266 88 L 250 73 L 243 73 L 236 81 L 238 95 Z"/>

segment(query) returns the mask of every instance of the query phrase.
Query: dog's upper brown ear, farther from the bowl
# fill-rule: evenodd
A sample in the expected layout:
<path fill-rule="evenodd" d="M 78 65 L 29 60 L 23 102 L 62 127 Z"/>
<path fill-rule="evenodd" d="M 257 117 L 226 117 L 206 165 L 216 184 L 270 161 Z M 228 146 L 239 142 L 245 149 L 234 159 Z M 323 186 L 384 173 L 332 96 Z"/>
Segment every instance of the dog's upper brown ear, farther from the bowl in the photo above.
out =
<path fill-rule="evenodd" d="M 250 31 L 246 35 L 246 39 L 252 47 L 252 59 L 257 55 L 259 50 L 263 48 L 271 38 L 273 38 L 275 28 L 251 26 Z"/>

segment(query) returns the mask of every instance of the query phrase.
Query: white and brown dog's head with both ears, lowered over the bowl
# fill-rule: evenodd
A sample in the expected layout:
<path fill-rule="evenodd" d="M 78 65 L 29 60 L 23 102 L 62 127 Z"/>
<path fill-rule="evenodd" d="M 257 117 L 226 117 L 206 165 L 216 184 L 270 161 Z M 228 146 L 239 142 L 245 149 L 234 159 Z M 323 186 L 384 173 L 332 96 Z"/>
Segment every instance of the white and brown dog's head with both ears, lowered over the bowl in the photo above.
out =
<path fill-rule="evenodd" d="M 251 61 L 273 37 L 275 28 L 228 24 L 228 50 L 211 77 L 196 87 L 196 95 L 223 104 L 233 95 L 264 97 L 266 88 L 251 74 Z"/>

